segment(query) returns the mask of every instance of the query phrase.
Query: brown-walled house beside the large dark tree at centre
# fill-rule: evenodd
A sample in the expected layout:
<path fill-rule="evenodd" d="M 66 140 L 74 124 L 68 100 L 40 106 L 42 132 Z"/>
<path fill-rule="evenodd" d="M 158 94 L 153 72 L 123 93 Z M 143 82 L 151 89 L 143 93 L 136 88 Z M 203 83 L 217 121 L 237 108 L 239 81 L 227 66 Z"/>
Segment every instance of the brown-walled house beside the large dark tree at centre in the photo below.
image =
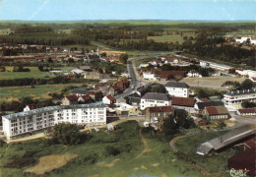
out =
<path fill-rule="evenodd" d="M 174 114 L 171 106 L 148 107 L 145 109 L 146 120 L 158 123 L 160 120 Z"/>

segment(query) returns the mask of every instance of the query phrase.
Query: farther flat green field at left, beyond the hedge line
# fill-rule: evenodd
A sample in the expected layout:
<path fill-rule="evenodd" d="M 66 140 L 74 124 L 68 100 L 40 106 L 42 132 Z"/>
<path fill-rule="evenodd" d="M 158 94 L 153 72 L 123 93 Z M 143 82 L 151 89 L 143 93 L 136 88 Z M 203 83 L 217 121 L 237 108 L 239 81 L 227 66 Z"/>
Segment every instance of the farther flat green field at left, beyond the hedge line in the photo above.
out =
<path fill-rule="evenodd" d="M 44 77 L 52 77 L 49 72 L 40 72 L 37 67 L 24 67 L 29 68 L 30 72 L 13 72 L 14 67 L 5 67 L 5 72 L 0 72 L 0 80 L 12 80 L 12 79 L 21 79 L 21 78 L 44 78 Z M 58 68 L 63 72 L 69 72 L 74 67 L 63 67 Z M 56 68 L 55 68 L 56 69 Z"/>

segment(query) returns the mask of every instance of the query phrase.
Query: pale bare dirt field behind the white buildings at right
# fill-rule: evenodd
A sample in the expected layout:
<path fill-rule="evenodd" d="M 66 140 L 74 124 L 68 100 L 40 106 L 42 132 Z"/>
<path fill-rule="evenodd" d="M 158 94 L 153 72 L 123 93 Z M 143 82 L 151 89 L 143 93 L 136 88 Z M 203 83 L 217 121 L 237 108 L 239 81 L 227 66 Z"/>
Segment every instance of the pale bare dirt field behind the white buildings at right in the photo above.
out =
<path fill-rule="evenodd" d="M 187 85 L 194 85 L 199 87 L 222 87 L 226 81 L 236 81 L 242 83 L 245 78 L 236 78 L 236 77 L 205 77 L 205 78 L 184 78 L 180 82 L 184 82 Z"/>

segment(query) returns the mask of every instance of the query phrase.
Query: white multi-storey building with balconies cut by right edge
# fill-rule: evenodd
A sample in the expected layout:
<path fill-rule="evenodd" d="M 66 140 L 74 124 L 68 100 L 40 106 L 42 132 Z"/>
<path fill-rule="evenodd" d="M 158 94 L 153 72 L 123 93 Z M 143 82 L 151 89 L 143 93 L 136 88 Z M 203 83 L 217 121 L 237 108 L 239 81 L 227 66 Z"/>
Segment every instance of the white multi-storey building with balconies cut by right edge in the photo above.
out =
<path fill-rule="evenodd" d="M 244 100 L 256 102 L 256 89 L 231 90 L 224 94 L 224 105 L 241 107 Z"/>

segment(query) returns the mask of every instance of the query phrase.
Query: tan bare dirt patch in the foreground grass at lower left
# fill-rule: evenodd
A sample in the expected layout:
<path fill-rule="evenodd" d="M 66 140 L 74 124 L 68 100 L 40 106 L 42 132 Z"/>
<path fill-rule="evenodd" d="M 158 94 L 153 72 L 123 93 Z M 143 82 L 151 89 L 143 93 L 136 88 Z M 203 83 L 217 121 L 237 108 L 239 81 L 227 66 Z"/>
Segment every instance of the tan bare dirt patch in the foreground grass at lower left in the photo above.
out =
<path fill-rule="evenodd" d="M 53 169 L 60 168 L 68 161 L 78 157 L 78 155 L 47 155 L 39 158 L 39 163 L 25 170 L 26 172 L 43 175 Z"/>

